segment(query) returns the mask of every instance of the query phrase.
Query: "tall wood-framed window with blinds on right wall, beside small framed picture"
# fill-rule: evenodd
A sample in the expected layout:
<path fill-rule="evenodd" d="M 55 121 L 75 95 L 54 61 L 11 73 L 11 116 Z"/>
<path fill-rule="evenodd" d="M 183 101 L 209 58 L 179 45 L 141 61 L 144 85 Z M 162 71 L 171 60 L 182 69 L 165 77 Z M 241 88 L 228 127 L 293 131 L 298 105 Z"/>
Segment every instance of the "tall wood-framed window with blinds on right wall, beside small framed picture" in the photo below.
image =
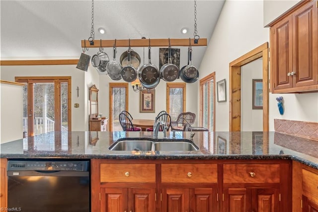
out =
<path fill-rule="evenodd" d="M 214 131 L 215 117 L 215 73 L 200 80 L 200 125 Z"/>

